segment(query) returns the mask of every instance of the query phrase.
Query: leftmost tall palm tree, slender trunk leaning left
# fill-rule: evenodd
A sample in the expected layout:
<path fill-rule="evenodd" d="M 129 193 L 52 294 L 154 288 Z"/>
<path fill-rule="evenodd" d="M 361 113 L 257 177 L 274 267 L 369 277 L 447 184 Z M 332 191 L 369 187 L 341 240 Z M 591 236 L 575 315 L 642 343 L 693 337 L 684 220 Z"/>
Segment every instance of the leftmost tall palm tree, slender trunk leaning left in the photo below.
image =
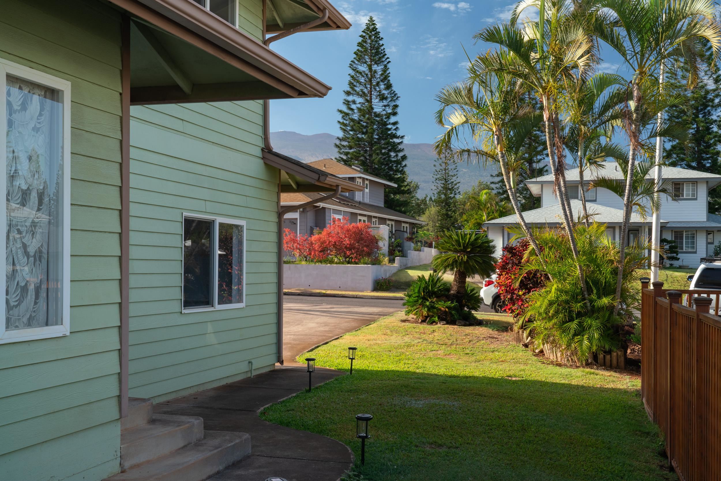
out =
<path fill-rule="evenodd" d="M 435 142 L 435 149 L 442 151 L 454 141 L 458 143 L 463 133 L 469 133 L 475 145 L 456 145 L 460 147 L 459 156 L 465 156 L 468 162 L 497 162 L 518 223 L 528 242 L 540 252 L 521 213 L 508 161 L 508 149 L 520 151 L 540 118 L 531 107 L 521 104 L 519 92 L 508 76 L 481 73 L 479 64 L 477 59 L 469 66 L 469 80 L 445 87 L 436 96 L 441 108 L 436 112 L 435 120 L 446 127 L 446 132 Z"/>

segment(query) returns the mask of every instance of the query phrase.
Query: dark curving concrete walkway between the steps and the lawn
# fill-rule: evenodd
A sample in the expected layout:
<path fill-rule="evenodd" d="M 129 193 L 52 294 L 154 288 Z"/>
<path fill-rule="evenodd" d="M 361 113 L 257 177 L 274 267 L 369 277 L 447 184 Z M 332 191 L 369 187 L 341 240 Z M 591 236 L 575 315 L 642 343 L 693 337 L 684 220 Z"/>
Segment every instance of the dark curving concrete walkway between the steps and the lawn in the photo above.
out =
<path fill-rule="evenodd" d="M 345 373 L 318 368 L 317 386 Z M 208 481 L 337 481 L 353 464 L 345 444 L 306 431 L 267 423 L 258 418 L 263 407 L 308 388 L 301 367 L 281 367 L 213 389 L 177 397 L 154 407 L 159 414 L 200 416 L 206 430 L 236 431 L 250 435 L 251 455 Z M 353 420 L 349 420 L 353 423 Z"/>

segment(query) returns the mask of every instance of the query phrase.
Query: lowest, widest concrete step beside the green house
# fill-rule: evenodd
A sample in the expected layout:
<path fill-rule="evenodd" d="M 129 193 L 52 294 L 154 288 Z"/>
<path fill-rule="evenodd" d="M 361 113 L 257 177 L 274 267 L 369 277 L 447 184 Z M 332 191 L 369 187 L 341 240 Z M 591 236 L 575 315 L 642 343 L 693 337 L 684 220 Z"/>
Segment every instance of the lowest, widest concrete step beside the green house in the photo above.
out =
<path fill-rule="evenodd" d="M 246 433 L 205 431 L 201 441 L 105 481 L 201 481 L 249 455 L 250 436 Z"/>

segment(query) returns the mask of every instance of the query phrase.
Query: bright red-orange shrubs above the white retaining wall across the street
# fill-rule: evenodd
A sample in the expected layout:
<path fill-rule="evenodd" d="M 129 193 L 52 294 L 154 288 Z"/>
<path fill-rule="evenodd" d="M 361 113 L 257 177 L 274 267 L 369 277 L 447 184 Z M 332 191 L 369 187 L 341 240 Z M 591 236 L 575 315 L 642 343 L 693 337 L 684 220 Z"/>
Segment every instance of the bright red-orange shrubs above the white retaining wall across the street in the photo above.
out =
<path fill-rule="evenodd" d="M 332 219 L 319 234 L 298 236 L 286 229 L 283 249 L 293 252 L 298 260 L 310 262 L 335 261 L 344 264 L 360 262 L 378 255 L 378 239 L 371 224 L 350 224 L 348 217 Z"/>

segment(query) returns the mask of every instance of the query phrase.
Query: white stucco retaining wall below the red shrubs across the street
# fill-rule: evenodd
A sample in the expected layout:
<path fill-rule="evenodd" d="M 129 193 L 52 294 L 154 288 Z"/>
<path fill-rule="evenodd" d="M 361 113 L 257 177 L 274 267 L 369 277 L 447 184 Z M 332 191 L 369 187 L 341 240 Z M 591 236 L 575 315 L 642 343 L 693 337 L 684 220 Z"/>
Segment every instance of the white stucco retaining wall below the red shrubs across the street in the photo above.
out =
<path fill-rule="evenodd" d="M 373 291 L 376 279 L 413 265 L 428 264 L 438 252 L 430 247 L 409 251 L 408 257 L 396 257 L 395 265 L 284 264 L 283 288 Z"/>

